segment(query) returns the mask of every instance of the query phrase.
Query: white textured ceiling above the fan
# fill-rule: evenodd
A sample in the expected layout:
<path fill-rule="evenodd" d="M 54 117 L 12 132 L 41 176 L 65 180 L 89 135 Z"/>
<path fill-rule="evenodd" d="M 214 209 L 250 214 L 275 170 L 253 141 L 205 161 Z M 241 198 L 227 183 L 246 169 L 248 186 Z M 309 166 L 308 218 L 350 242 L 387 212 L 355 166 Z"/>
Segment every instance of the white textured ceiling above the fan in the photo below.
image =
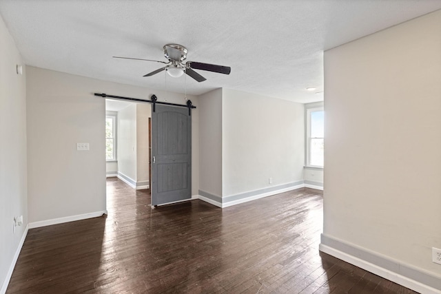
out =
<path fill-rule="evenodd" d="M 25 63 L 106 81 L 203 94 L 218 87 L 301 103 L 321 101 L 323 51 L 441 9 L 441 0 L 117 1 L 0 0 Z M 196 70 L 197 83 L 165 72 L 163 45 L 187 60 L 232 67 Z M 185 86 L 186 85 L 186 86 Z M 316 86 L 308 92 L 306 87 Z"/>

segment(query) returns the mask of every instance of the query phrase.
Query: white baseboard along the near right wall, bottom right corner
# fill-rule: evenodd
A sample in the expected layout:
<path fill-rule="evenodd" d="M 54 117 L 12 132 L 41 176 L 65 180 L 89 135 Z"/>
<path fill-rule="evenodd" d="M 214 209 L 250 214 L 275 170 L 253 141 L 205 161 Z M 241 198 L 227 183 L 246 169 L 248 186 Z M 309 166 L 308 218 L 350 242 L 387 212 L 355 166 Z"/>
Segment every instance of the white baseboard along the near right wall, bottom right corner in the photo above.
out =
<path fill-rule="evenodd" d="M 329 237 L 326 237 L 326 238 L 329 238 Z M 337 242 L 339 242 L 339 241 L 337 241 Z M 348 244 L 345 244 L 345 246 L 348 246 Z M 367 260 L 362 259 L 362 257 L 364 256 L 364 253 L 362 253 L 362 251 L 360 251 L 360 249 L 358 249 L 358 248 L 356 248 L 355 250 L 358 252 L 357 255 L 361 258 L 356 257 L 354 255 L 351 255 L 349 253 L 345 253 L 343 251 L 335 249 L 332 246 L 328 246 L 328 245 L 322 244 L 322 243 L 320 243 L 320 245 L 319 245 L 319 250 L 324 253 L 327 253 L 329 255 L 332 255 L 340 260 L 343 260 L 345 262 L 349 262 L 350 264 L 358 266 L 361 269 L 365 269 L 366 271 L 369 271 L 371 273 L 379 275 L 380 277 L 384 277 L 384 279 L 390 280 L 390 281 L 395 282 L 397 284 L 400 284 L 404 287 L 410 288 L 413 291 L 417 291 L 418 293 L 424 293 L 424 294 L 440 294 L 441 293 L 440 289 L 433 288 L 433 287 L 426 285 L 426 284 L 422 284 L 421 282 L 418 282 L 417 279 L 415 279 L 415 280 L 411 279 L 410 277 L 406 277 L 404 275 L 401 275 L 400 273 L 396 273 L 396 272 L 391 271 L 389 269 L 385 269 L 382 266 L 378 266 L 377 264 L 373 264 L 371 262 L 368 262 Z M 354 252 L 356 252 L 356 251 L 354 251 Z M 366 252 L 366 257 L 369 255 L 372 255 L 372 253 Z M 379 264 L 389 264 L 391 262 L 395 262 L 393 260 L 390 260 L 389 258 L 383 258 L 380 255 L 376 255 L 375 258 L 376 258 L 376 260 L 378 260 Z M 409 266 L 407 264 L 402 264 L 402 263 L 400 263 L 399 265 L 400 265 L 398 267 L 399 269 L 407 269 L 408 272 L 412 272 L 413 275 L 420 277 L 420 279 L 418 279 L 418 280 L 437 280 L 437 277 L 433 277 L 433 275 L 425 272 L 422 269 L 416 269 L 413 266 Z"/>

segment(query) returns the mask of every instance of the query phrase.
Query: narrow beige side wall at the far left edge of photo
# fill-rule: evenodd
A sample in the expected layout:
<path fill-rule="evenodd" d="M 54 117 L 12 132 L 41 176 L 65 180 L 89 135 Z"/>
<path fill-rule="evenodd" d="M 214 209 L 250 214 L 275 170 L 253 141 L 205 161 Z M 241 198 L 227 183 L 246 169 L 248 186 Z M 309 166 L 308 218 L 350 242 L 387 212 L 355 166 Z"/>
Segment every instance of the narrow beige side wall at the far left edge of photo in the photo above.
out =
<path fill-rule="evenodd" d="M 23 60 L 0 17 L 0 293 L 6 291 L 14 254 L 28 224 L 26 163 L 26 72 Z M 16 65 L 23 65 L 23 75 Z M 23 225 L 13 230 L 14 216 Z M 18 255 L 16 255 L 16 258 Z"/>

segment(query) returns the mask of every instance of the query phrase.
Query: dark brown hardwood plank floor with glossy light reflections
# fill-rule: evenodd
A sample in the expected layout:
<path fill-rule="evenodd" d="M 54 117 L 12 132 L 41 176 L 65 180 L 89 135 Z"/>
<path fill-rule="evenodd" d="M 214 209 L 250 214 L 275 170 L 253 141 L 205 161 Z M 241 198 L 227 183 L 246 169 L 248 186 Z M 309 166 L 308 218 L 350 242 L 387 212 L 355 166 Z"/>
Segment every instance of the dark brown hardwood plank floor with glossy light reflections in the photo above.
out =
<path fill-rule="evenodd" d="M 149 204 L 108 178 L 108 216 L 30 229 L 7 293 L 415 293 L 319 253 L 320 191 Z"/>

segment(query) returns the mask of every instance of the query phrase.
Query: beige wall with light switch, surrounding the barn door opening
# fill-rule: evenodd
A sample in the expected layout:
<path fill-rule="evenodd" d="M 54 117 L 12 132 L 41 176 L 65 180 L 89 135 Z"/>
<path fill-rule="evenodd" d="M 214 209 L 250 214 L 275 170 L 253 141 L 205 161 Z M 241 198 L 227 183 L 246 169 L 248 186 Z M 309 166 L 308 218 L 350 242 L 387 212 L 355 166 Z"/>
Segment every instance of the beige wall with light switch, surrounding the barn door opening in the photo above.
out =
<path fill-rule="evenodd" d="M 105 99 L 116 96 L 185 103 L 182 94 L 27 67 L 30 222 L 105 210 Z M 196 96 L 187 95 L 198 105 Z M 76 151 L 90 143 L 90 151 Z M 198 109 L 192 112 L 192 193 L 198 193 Z"/>

